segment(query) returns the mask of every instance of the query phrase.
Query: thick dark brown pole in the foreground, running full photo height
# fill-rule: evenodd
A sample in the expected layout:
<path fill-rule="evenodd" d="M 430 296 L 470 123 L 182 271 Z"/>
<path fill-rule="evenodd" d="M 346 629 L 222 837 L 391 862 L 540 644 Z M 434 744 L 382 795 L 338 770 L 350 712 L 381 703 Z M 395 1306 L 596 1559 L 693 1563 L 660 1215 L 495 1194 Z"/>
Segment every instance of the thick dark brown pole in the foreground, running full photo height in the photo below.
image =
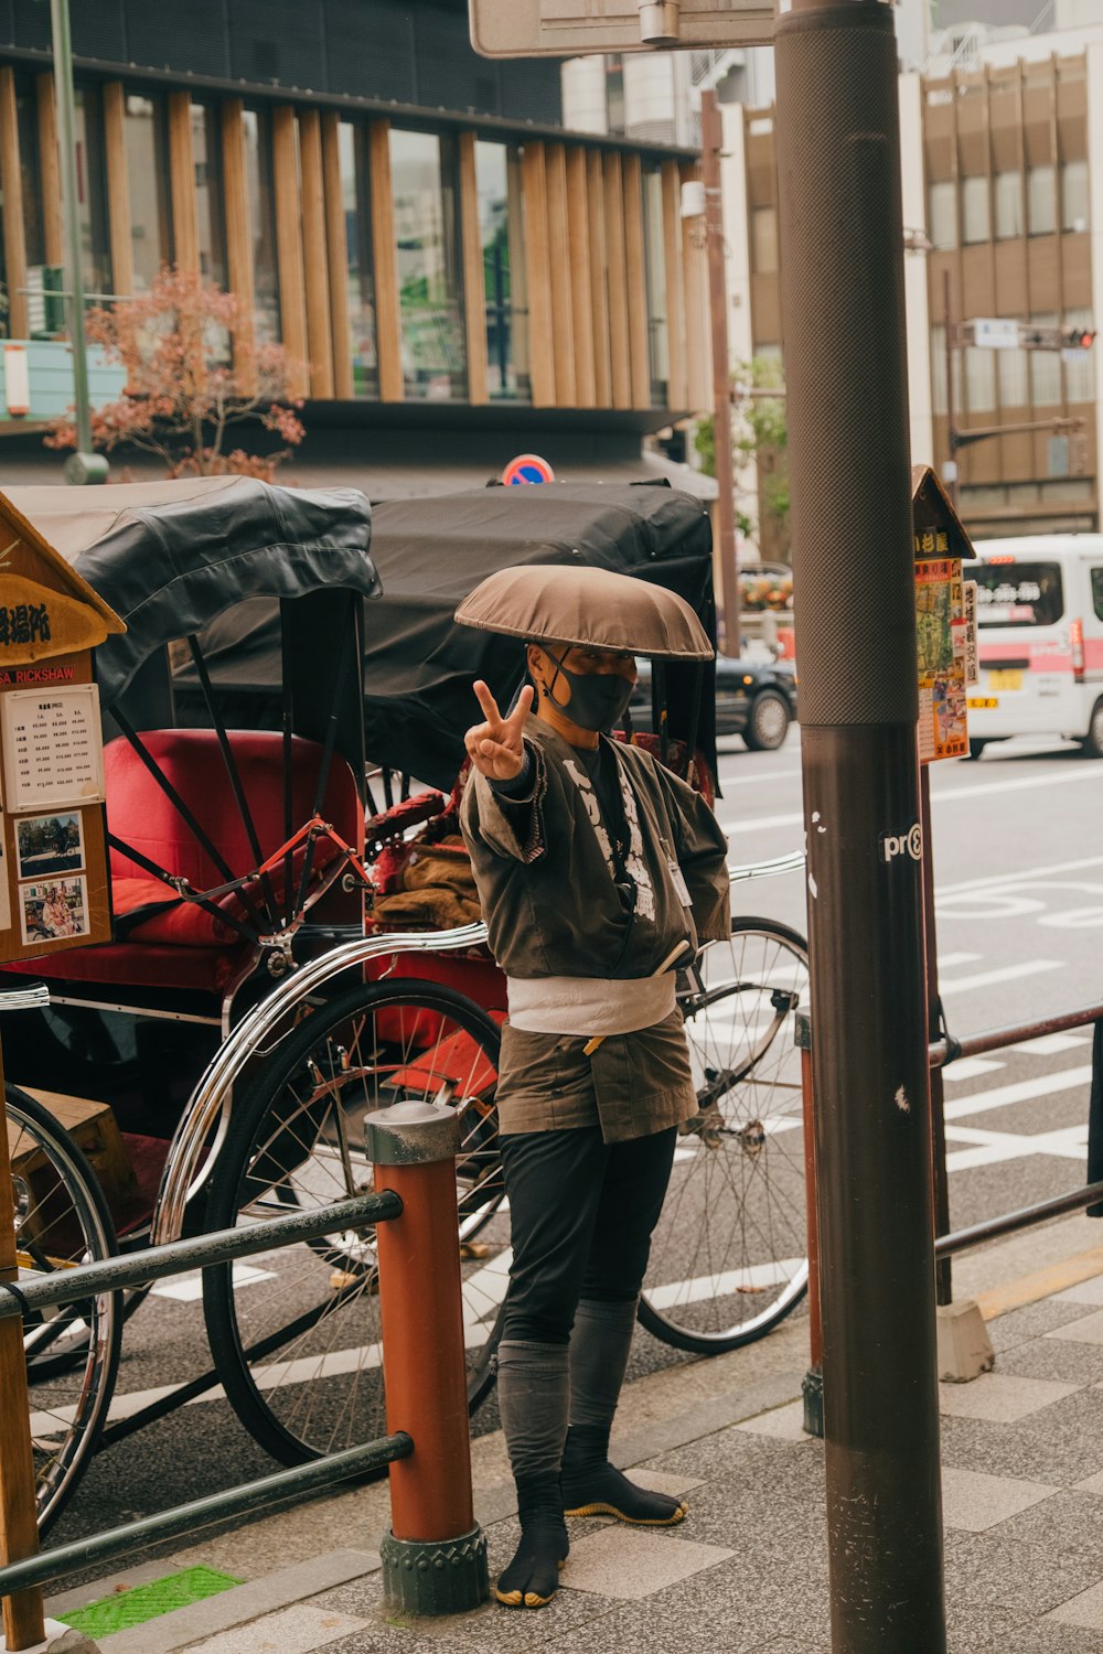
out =
<path fill-rule="evenodd" d="M 792 0 L 776 63 L 832 1649 L 944 1654 L 891 8 Z"/>

